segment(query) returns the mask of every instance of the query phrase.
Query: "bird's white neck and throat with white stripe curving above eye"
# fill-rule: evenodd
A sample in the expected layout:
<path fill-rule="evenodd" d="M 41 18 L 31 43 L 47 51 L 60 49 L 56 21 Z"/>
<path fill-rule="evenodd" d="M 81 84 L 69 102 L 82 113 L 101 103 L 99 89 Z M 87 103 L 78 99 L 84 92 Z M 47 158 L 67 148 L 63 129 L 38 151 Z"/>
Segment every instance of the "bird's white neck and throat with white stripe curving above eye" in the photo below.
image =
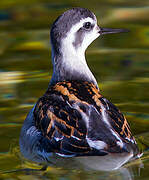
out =
<path fill-rule="evenodd" d="M 90 21 L 92 20 L 91 18 L 88 19 Z M 92 82 L 98 87 L 97 81 L 90 71 L 85 59 L 86 48 L 98 37 L 98 34 L 93 32 L 93 36 L 88 35 L 77 48 L 73 45 L 73 42 L 75 41 L 75 32 L 79 26 L 82 25 L 83 21 L 86 21 L 86 19 L 81 20 L 72 27 L 67 33 L 67 36 L 61 40 L 60 55 L 55 54 L 53 50 L 52 62 L 54 71 L 51 83 L 64 80 L 79 80 Z"/>

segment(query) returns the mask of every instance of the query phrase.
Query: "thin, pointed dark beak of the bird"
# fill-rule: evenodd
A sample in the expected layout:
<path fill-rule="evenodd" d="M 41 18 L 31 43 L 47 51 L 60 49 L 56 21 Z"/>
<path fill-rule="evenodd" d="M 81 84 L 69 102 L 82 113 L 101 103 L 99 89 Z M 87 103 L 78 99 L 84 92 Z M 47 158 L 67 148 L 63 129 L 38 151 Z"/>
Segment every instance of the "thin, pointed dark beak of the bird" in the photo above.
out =
<path fill-rule="evenodd" d="M 114 34 L 114 33 L 122 33 L 122 32 L 129 32 L 127 29 L 111 29 L 111 28 L 99 28 L 98 33 L 100 35 L 103 34 Z"/>

